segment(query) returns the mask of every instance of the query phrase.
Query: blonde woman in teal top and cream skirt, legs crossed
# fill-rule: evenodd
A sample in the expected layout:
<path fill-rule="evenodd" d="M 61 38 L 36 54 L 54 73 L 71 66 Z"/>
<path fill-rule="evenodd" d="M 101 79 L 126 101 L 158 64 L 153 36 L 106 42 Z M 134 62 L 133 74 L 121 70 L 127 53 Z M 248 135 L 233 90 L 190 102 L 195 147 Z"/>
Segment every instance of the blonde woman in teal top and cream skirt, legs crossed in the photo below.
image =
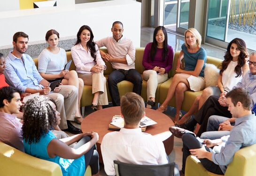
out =
<path fill-rule="evenodd" d="M 181 46 L 176 74 L 171 81 L 166 99 L 157 109 L 160 112 L 164 112 L 169 101 L 175 95 L 176 115 L 173 120 L 174 123 L 181 117 L 180 110 L 184 99 L 184 92 L 187 90 L 201 91 L 205 85 L 203 70 L 206 62 L 206 51 L 201 47 L 202 37 L 196 29 L 189 28 L 185 31 L 184 39 L 185 44 Z M 181 63 L 182 56 L 184 56 L 184 69 Z"/>

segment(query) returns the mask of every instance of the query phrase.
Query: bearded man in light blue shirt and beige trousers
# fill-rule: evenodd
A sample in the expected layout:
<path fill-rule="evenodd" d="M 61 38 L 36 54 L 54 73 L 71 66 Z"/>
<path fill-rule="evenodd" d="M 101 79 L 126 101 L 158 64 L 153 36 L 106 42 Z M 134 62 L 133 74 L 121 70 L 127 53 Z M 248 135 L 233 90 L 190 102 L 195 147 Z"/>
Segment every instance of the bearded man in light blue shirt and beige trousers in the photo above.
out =
<path fill-rule="evenodd" d="M 61 114 L 60 128 L 78 134 L 80 129 L 74 127 L 70 121 L 74 121 L 77 109 L 78 90 L 73 85 L 60 85 L 51 90 L 49 82 L 43 79 L 32 58 L 25 54 L 28 48 L 28 35 L 24 32 L 16 32 L 13 36 L 13 51 L 6 57 L 6 81 L 10 86 L 17 87 L 23 92 L 40 93 L 55 100 L 58 111 Z M 51 92 L 53 91 L 53 92 Z"/>

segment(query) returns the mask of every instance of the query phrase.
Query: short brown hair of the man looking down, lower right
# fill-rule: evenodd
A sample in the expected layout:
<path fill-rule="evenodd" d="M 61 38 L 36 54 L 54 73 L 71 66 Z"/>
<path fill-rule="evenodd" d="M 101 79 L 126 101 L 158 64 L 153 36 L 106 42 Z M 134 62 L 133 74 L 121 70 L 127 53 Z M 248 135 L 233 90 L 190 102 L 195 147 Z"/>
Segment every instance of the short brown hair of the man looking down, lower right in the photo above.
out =
<path fill-rule="evenodd" d="M 236 88 L 226 94 L 226 98 L 231 98 L 234 106 L 240 101 L 244 109 L 250 110 L 252 104 L 252 98 L 250 93 L 243 88 Z"/>

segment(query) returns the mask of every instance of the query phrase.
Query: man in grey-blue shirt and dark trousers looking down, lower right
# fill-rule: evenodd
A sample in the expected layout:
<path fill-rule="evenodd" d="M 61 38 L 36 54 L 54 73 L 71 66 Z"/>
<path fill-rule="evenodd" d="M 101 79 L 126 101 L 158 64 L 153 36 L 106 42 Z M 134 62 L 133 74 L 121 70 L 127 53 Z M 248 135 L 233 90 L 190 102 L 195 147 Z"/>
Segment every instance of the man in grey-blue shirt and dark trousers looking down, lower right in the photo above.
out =
<path fill-rule="evenodd" d="M 230 135 L 215 140 L 204 139 L 202 145 L 194 134 L 183 134 L 183 172 L 186 157 L 192 154 L 201 161 L 204 168 L 215 174 L 223 175 L 229 163 L 233 161 L 236 151 L 256 144 L 256 118 L 251 111 L 250 93 L 243 88 L 233 89 L 226 94 L 226 102 L 228 110 L 236 118 Z M 213 150 L 209 148 L 213 146 Z"/>

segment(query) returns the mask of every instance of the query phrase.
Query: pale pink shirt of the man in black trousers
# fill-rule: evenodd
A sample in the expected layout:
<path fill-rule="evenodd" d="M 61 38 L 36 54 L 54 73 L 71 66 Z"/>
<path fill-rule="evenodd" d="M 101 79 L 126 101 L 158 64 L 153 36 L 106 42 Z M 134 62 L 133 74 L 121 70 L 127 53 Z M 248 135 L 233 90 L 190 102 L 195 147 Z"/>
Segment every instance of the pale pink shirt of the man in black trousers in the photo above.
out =
<path fill-rule="evenodd" d="M 113 69 L 135 69 L 135 47 L 132 40 L 122 36 L 117 42 L 113 37 L 102 38 L 96 42 L 100 47 L 107 47 L 114 58 L 125 58 L 127 64 L 111 62 Z"/>

